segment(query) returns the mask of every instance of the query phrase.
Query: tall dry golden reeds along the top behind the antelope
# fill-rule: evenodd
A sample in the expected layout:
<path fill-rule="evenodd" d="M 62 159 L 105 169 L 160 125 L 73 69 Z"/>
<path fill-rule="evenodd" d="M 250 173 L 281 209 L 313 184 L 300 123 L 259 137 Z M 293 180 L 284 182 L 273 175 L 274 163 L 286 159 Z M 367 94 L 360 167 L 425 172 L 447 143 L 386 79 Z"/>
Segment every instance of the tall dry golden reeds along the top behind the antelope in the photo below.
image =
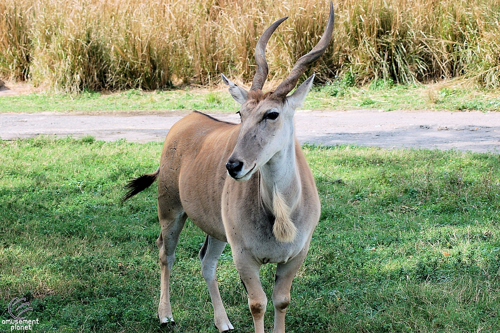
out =
<path fill-rule="evenodd" d="M 344 0 L 334 42 L 310 72 L 358 83 L 466 77 L 500 86 L 497 0 Z M 267 48 L 284 78 L 323 32 L 328 2 L 285 0 L 0 0 L 0 76 L 56 90 L 158 89 L 243 81 L 263 30 L 290 18 Z"/>

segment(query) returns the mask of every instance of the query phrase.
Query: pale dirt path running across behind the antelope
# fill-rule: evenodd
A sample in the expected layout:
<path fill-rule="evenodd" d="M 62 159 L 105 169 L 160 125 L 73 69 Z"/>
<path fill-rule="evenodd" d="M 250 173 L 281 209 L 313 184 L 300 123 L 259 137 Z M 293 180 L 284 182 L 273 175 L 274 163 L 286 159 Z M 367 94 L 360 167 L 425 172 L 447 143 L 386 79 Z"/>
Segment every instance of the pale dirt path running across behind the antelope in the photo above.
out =
<path fill-rule="evenodd" d="M 239 122 L 234 114 L 212 115 Z M 97 140 L 163 141 L 181 115 L 0 114 L 3 140 L 39 134 L 92 135 Z M 298 140 L 325 145 L 357 144 L 387 148 L 500 150 L 500 113 L 444 111 L 297 111 Z"/>

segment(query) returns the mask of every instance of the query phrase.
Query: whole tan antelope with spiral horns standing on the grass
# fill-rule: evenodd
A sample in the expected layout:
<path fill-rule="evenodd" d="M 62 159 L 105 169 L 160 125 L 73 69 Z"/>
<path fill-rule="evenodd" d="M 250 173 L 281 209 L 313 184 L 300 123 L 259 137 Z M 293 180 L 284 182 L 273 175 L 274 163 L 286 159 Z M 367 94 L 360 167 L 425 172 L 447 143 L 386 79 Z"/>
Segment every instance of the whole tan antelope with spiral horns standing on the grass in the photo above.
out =
<path fill-rule="evenodd" d="M 273 92 L 262 93 L 267 76 L 265 46 L 276 21 L 260 37 L 255 49 L 257 71 L 250 91 L 229 81 L 231 96 L 241 104 L 240 124 L 216 120 L 194 111 L 175 123 L 163 145 L 159 168 L 130 181 L 126 200 L 158 179 L 156 241 L 161 267 L 158 317 L 173 323 L 169 277 L 180 231 L 187 217 L 206 234 L 199 251 L 219 331 L 233 326 L 220 298 L 215 269 L 227 242 L 238 275 L 248 293 L 256 333 L 264 332 L 267 298 L 259 280 L 262 264 L 277 263 L 272 291 L 274 333 L 284 332 L 290 287 L 302 264 L 320 206 L 312 173 L 294 135 L 293 114 L 309 91 L 314 75 L 293 94 L 308 64 L 320 57 L 330 42 L 333 5 L 323 36 L 300 58 L 290 75 Z"/>

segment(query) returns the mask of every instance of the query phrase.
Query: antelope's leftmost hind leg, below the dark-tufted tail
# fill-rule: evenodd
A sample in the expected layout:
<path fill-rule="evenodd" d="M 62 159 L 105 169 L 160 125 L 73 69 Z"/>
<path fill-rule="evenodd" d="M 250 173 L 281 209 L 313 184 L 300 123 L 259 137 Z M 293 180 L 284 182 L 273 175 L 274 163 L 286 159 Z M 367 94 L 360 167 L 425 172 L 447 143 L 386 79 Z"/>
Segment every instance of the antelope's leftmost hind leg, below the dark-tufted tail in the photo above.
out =
<path fill-rule="evenodd" d="M 158 305 L 158 318 L 161 325 L 168 323 L 175 324 L 170 306 L 170 273 L 172 271 L 173 260 L 175 259 L 175 247 L 179 242 L 180 231 L 184 227 L 187 215 L 183 210 L 174 211 L 170 208 L 165 213 L 160 211 L 158 200 L 158 216 L 161 224 L 161 232 L 156 245 L 159 248 L 160 273 L 160 298 Z M 165 209 L 166 210 L 166 209 Z"/>

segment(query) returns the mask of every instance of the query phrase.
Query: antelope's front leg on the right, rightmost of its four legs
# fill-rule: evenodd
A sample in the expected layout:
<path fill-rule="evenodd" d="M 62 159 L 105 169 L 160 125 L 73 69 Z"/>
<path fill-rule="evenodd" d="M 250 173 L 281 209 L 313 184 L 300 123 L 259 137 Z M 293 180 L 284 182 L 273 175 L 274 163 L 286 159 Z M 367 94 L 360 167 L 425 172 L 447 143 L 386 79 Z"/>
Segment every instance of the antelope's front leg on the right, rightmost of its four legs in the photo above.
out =
<path fill-rule="evenodd" d="M 290 288 L 293 278 L 307 254 L 307 245 L 293 259 L 286 263 L 278 263 L 276 277 L 272 289 L 272 305 L 274 305 L 274 330 L 273 333 L 284 333 L 284 315 L 290 303 Z"/>

